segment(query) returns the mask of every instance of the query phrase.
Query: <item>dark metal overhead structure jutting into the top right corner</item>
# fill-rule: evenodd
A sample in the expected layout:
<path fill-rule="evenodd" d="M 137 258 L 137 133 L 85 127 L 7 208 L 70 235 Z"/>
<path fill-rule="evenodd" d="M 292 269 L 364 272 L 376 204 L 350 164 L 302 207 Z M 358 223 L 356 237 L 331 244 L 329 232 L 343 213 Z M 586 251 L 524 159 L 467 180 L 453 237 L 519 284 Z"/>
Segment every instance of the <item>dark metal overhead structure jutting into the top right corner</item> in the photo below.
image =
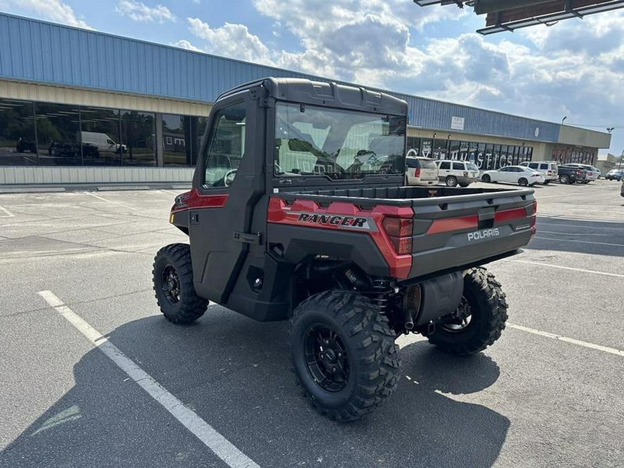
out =
<path fill-rule="evenodd" d="M 487 15 L 486 27 L 477 30 L 483 35 L 538 24 L 553 26 L 562 19 L 582 18 L 624 8 L 624 0 L 414 0 L 414 3 L 418 6 L 471 6 L 477 15 Z"/>

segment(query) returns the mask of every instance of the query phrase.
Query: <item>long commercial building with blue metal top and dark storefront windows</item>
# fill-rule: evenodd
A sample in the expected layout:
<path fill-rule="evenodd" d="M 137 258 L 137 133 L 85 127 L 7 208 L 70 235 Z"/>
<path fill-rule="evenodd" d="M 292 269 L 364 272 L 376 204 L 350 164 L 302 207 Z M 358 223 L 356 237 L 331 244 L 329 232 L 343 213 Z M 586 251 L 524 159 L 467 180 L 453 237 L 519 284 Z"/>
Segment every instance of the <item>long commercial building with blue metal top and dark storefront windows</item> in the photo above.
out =
<path fill-rule="evenodd" d="M 264 76 L 318 76 L 0 14 L 0 184 L 187 182 L 216 97 Z M 408 146 L 474 159 L 593 164 L 610 135 L 433 99 Z"/>

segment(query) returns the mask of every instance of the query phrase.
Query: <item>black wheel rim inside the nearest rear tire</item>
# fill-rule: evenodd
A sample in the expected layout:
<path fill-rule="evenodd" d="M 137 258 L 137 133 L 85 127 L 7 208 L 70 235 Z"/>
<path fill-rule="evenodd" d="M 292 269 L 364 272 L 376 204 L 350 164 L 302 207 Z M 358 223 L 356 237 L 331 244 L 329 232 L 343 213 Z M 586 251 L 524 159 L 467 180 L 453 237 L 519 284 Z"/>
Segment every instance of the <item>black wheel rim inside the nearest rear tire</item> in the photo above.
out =
<path fill-rule="evenodd" d="M 313 324 L 304 338 L 304 358 L 313 381 L 336 393 L 349 382 L 349 358 L 343 340 L 328 324 Z"/>

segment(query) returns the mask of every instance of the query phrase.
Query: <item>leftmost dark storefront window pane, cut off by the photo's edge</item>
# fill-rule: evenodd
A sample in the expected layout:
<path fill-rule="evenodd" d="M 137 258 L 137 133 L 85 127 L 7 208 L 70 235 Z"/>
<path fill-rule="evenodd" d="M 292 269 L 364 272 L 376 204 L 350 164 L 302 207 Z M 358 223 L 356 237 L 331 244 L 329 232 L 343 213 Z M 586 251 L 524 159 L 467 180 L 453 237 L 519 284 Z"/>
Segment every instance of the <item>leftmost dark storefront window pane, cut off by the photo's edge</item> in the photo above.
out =
<path fill-rule="evenodd" d="M 0 164 L 37 164 L 33 103 L 0 99 Z"/>

